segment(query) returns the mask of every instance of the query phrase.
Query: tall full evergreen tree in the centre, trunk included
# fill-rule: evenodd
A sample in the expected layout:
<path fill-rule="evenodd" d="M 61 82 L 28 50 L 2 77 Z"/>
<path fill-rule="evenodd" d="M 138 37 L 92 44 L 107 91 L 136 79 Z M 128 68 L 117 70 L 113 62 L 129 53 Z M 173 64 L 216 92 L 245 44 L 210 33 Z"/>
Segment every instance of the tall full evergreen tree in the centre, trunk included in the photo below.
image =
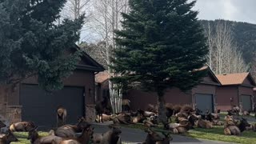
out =
<path fill-rule="evenodd" d="M 198 22 L 195 2 L 187 0 L 130 0 L 130 14 L 122 14 L 123 30 L 116 32 L 114 82 L 140 83 L 158 94 L 159 120 L 166 121 L 164 94 L 178 87 L 190 90 L 201 82 L 206 63 L 206 38 Z"/>

